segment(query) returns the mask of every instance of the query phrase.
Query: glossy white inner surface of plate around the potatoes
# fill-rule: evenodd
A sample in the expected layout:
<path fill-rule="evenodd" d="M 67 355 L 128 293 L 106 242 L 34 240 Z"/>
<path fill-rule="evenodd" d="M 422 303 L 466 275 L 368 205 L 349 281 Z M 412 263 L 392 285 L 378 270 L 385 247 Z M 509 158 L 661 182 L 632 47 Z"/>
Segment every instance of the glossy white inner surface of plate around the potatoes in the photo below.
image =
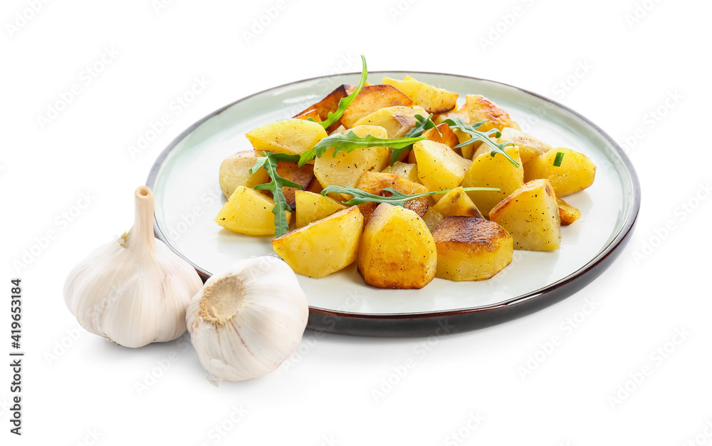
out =
<path fill-rule="evenodd" d="M 382 76 L 372 73 L 371 83 Z M 453 282 L 434 279 L 420 290 L 382 290 L 367 286 L 355 264 L 323 279 L 298 276 L 311 306 L 351 313 L 417 313 L 486 306 L 528 294 L 575 273 L 617 236 L 632 207 L 632 179 L 614 147 L 595 128 L 567 110 L 517 88 L 489 81 L 415 73 L 420 81 L 456 91 L 461 99 L 479 93 L 508 110 L 528 133 L 553 147 L 585 153 L 597 165 L 592 187 L 565 197 L 579 208 L 580 220 L 562 227 L 558 251 L 515 251 L 512 264 L 493 279 Z M 220 162 L 251 149 L 244 137 L 258 125 L 288 118 L 356 75 L 333 76 L 274 88 L 241 100 L 206 120 L 170 152 L 160 168 L 154 192 L 159 229 L 187 259 L 216 273 L 239 259 L 276 255 L 273 237 L 250 237 L 222 229 L 214 217 L 225 202 L 218 185 Z"/>

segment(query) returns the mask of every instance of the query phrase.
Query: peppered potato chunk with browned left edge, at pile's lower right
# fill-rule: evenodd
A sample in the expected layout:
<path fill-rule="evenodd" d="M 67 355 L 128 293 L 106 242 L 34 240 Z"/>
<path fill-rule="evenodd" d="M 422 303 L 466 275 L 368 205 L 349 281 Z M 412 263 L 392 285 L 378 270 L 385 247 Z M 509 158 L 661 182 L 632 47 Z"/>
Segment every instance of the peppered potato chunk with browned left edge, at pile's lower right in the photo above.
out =
<path fill-rule="evenodd" d="M 561 221 L 554 187 L 549 180 L 532 180 L 512 192 L 489 214 L 514 239 L 514 249 L 559 249 Z"/>

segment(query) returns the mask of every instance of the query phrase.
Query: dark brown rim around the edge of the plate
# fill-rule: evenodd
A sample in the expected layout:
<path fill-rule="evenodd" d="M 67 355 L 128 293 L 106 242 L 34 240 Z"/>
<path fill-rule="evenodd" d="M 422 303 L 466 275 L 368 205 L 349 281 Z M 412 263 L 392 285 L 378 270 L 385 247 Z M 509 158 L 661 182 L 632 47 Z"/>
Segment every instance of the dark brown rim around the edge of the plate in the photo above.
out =
<path fill-rule="evenodd" d="M 624 164 L 625 170 L 627 171 L 630 179 L 632 181 L 632 206 L 631 212 L 627 216 L 626 221 L 620 232 L 613 239 L 608 246 L 600 252 L 597 256 L 591 259 L 587 264 L 582 266 L 580 269 L 574 273 L 566 276 L 553 284 L 545 286 L 541 289 L 530 291 L 523 296 L 517 296 L 507 301 L 499 302 L 498 304 L 491 304 L 486 306 L 476 306 L 471 308 L 457 308 L 448 311 L 433 311 L 433 312 L 419 312 L 419 313 L 391 313 L 391 314 L 373 314 L 373 313 L 350 313 L 347 311 L 332 311 L 325 308 L 319 308 L 315 306 L 309 307 L 309 322 L 307 328 L 317 332 L 323 333 L 340 333 L 355 336 L 377 336 L 377 337 L 411 337 L 411 336 L 439 336 L 446 333 L 458 333 L 462 331 L 470 331 L 478 328 L 485 328 L 488 326 L 493 326 L 498 323 L 503 323 L 514 318 L 525 316 L 535 311 L 539 311 L 542 308 L 555 304 L 558 301 L 572 296 L 577 291 L 590 284 L 591 281 L 600 276 L 603 271 L 608 269 L 613 261 L 620 255 L 623 247 L 629 241 L 629 237 L 633 232 L 635 224 L 638 219 L 638 212 L 640 209 L 640 182 L 638 180 L 638 175 L 633 167 L 633 164 L 629 157 L 626 155 L 624 150 L 618 145 L 618 143 L 611 138 L 607 133 L 602 130 L 598 125 L 593 123 L 591 120 L 585 116 L 577 113 L 575 110 L 568 108 L 565 105 L 557 103 L 555 100 L 547 98 L 538 93 L 534 93 L 530 90 L 525 90 L 524 88 L 519 88 L 514 85 L 509 85 L 507 83 L 502 83 L 498 81 L 490 81 L 488 79 L 476 78 L 473 76 L 464 76 L 459 74 L 449 74 L 449 73 L 436 73 L 431 71 L 372 71 L 370 74 L 378 73 L 407 73 L 407 74 L 425 74 L 425 75 L 436 75 L 436 76 L 453 76 L 457 78 L 465 78 L 473 81 L 484 81 L 488 83 L 496 83 L 499 85 L 504 85 L 508 88 L 515 88 L 520 90 L 522 93 L 532 95 L 540 100 L 544 100 L 548 103 L 555 105 L 558 108 L 566 110 L 568 113 L 575 115 L 580 120 L 590 125 L 591 128 L 596 130 L 597 133 L 602 135 L 614 149 L 618 152 L 621 160 Z M 361 73 L 340 73 L 338 75 L 328 75 L 328 76 L 317 76 L 314 78 L 302 79 L 300 81 L 294 81 L 290 83 L 285 83 L 283 85 L 278 85 L 276 87 L 268 88 L 266 90 L 260 91 L 258 93 L 253 93 L 251 95 L 245 96 L 239 100 L 236 100 L 228 105 L 225 105 L 218 110 L 206 115 L 197 122 L 193 123 L 189 128 L 184 130 L 180 135 L 178 135 L 169 145 L 158 155 L 156 161 L 154 162 L 151 170 L 149 172 L 148 178 L 146 180 L 147 187 L 153 188 L 157 179 L 158 172 L 163 164 L 163 162 L 168 157 L 169 153 L 174 150 L 179 142 L 184 140 L 190 133 L 192 133 L 196 128 L 202 125 L 206 120 L 219 115 L 224 110 L 231 108 L 237 103 L 241 103 L 248 98 L 252 98 L 256 95 L 261 95 L 271 90 L 277 88 L 283 88 L 288 85 L 293 85 L 295 83 L 302 83 L 307 81 L 316 81 L 319 79 L 328 79 L 341 76 L 360 76 Z M 158 224 L 154 218 L 154 227 L 156 237 L 162 242 L 166 243 L 172 251 L 178 254 L 182 259 L 191 264 L 201 278 L 205 281 L 209 274 L 204 269 L 194 264 L 190 259 L 187 259 L 181 252 L 177 251 L 172 244 L 169 243 L 167 237 L 161 232 Z"/>

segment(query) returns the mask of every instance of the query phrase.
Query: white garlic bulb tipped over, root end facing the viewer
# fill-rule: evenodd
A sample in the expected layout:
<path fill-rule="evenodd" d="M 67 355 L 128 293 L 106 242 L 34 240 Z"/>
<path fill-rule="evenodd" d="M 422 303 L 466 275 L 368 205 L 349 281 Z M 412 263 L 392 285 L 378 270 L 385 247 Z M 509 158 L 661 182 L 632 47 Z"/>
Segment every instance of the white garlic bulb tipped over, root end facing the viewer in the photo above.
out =
<path fill-rule="evenodd" d="M 190 302 L 187 324 L 200 363 L 219 385 L 278 368 L 299 346 L 308 317 L 294 271 L 262 256 L 208 279 Z"/>

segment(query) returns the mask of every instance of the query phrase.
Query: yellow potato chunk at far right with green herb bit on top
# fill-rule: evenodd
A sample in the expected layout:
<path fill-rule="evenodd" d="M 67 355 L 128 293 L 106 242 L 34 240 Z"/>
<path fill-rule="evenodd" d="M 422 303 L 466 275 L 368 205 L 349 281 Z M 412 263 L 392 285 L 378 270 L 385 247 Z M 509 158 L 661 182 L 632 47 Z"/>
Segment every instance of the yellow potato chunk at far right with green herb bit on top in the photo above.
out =
<path fill-rule="evenodd" d="M 558 152 L 564 154 L 559 167 L 554 165 Z M 558 147 L 524 165 L 525 181 L 539 178 L 545 178 L 554 185 L 557 197 L 565 197 L 593 184 L 596 178 L 596 165 L 582 153 Z"/>

